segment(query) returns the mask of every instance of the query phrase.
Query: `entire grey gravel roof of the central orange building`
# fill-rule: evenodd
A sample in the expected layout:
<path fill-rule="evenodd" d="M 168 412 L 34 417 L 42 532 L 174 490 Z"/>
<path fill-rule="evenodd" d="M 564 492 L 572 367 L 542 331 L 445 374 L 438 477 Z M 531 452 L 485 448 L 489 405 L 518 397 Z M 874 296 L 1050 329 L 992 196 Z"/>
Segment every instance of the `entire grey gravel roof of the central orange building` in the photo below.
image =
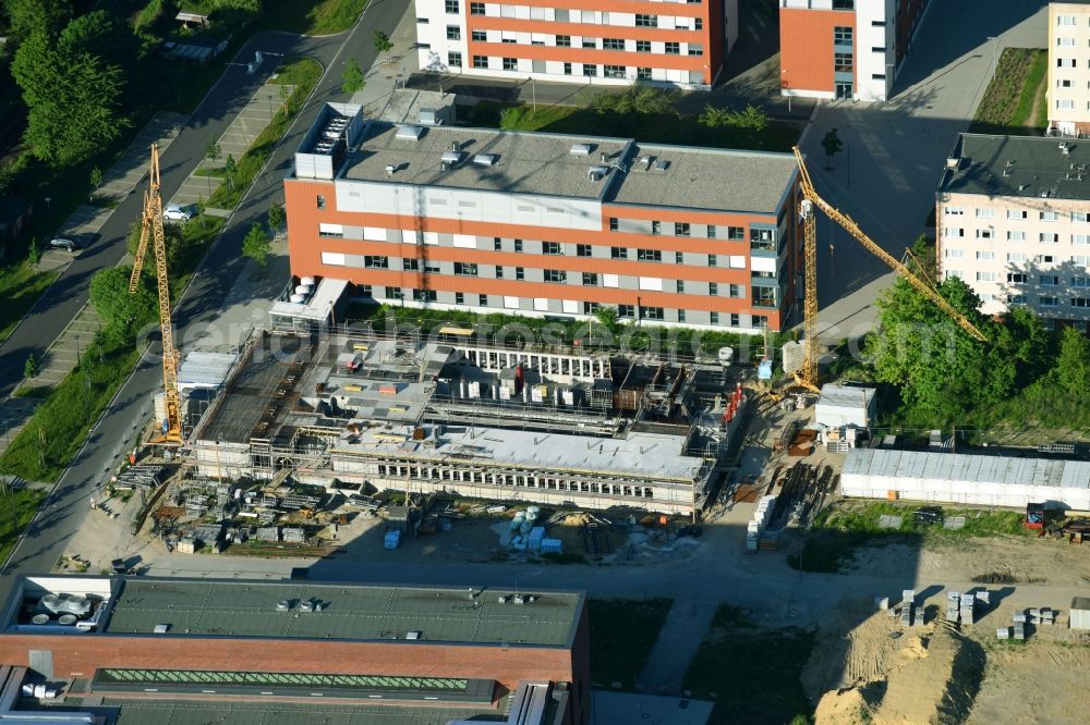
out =
<path fill-rule="evenodd" d="M 775 213 L 797 173 L 790 153 L 637 144 L 628 138 L 425 126 L 417 140 L 398 126 L 372 123 L 349 157 L 343 177 L 512 194 L 582 197 L 616 204 Z M 458 144 L 463 161 L 444 171 L 441 157 Z M 590 147 L 576 156 L 572 146 Z M 477 153 L 497 156 L 491 167 Z M 602 155 L 607 157 L 602 160 Z M 652 170 L 640 162 L 652 157 Z M 666 161 L 664 170 L 657 161 Z M 591 167 L 607 167 L 591 181 Z M 388 174 L 387 167 L 397 171 Z"/>

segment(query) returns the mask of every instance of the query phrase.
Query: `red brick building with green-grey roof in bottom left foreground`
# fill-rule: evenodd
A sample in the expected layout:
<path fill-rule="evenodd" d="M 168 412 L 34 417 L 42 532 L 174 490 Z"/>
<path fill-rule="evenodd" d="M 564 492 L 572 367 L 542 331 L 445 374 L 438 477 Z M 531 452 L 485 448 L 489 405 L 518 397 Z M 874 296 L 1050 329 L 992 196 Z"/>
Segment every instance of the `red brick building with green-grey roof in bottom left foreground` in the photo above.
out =
<path fill-rule="evenodd" d="M 0 663 L 72 683 L 73 704 L 134 701 L 131 717 L 146 699 L 438 709 L 451 721 L 536 700 L 534 723 L 566 725 L 588 718 L 588 636 L 572 592 L 26 577 Z"/>

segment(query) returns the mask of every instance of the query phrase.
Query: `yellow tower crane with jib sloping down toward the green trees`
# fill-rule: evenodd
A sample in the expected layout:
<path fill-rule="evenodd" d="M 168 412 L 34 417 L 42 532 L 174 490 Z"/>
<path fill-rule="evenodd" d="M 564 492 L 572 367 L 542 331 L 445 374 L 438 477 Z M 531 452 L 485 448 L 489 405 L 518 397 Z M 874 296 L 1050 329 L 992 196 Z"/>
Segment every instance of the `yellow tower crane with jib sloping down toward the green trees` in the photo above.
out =
<path fill-rule="evenodd" d="M 826 217 L 844 228 L 857 242 L 867 247 L 872 255 L 888 265 L 895 272 L 904 277 L 909 284 L 919 290 L 923 296 L 937 305 L 944 312 L 949 315 L 961 329 L 980 342 L 988 342 L 977 327 L 969 319 L 957 311 L 953 305 L 943 298 L 934 285 L 917 277 L 912 270 L 906 267 L 900 260 L 889 255 L 880 247 L 871 237 L 867 236 L 859 224 L 851 217 L 841 213 L 836 207 L 818 195 L 813 182 L 810 181 L 810 170 L 807 169 L 802 152 L 796 146 L 795 160 L 799 164 L 799 187 L 802 191 L 802 222 L 804 231 L 804 257 L 806 257 L 806 297 L 803 302 L 803 324 L 802 332 L 806 335 L 803 342 L 802 367 L 795 372 L 795 383 L 808 390 L 818 390 L 818 231 L 816 210 L 821 209 Z"/>

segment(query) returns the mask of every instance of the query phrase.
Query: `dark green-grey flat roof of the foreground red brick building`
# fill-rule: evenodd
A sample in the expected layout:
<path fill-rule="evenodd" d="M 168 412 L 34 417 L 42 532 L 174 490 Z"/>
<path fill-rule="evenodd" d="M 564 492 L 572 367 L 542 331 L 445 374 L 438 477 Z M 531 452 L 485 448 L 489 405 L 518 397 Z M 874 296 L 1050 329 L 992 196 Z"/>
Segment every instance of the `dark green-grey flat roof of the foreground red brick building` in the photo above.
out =
<path fill-rule="evenodd" d="M 142 577 L 124 580 L 104 631 L 341 640 L 404 640 L 408 632 L 420 631 L 426 642 L 568 646 L 579 624 L 582 594 L 529 593 L 538 594 L 537 600 L 500 604 L 500 594 L 513 592 L 489 588 L 471 602 L 468 588 Z M 277 610 L 283 600 L 292 603 L 290 611 Z M 298 602 L 303 600 L 325 606 L 300 612 Z M 170 629 L 153 635 L 157 624 Z"/>

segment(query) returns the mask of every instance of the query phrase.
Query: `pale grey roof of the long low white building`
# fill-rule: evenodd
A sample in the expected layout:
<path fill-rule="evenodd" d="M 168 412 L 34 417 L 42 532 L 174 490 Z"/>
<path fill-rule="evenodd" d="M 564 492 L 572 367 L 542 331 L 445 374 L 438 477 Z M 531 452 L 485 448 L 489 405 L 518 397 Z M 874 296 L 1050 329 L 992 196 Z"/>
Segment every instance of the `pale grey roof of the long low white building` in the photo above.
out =
<path fill-rule="evenodd" d="M 888 476 L 1007 486 L 1090 488 L 1090 462 L 852 448 L 843 476 Z"/>

